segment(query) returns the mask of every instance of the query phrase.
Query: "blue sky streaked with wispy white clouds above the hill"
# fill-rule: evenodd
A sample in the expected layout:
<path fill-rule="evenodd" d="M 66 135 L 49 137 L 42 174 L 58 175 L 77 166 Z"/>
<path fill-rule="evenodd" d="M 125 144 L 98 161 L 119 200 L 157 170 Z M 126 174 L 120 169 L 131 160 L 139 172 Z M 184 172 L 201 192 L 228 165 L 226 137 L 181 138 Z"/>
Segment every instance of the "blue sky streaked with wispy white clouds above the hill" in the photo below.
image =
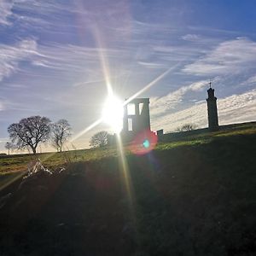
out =
<path fill-rule="evenodd" d="M 32 115 L 76 137 L 102 115 L 106 73 L 122 100 L 157 79 L 139 95 L 153 131 L 207 127 L 210 79 L 220 125 L 256 121 L 255 24 L 254 0 L 0 0 L 0 152 Z"/>

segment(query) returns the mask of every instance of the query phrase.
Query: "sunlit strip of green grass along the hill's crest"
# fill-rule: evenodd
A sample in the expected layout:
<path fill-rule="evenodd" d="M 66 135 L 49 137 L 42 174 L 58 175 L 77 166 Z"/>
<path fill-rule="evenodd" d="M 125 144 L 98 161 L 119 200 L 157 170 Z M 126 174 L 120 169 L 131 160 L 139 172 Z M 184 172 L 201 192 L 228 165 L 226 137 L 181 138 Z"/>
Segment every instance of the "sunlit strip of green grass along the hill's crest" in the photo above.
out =
<path fill-rule="evenodd" d="M 193 146 L 198 144 L 210 143 L 213 139 L 219 137 L 232 137 L 239 135 L 256 134 L 256 124 L 246 123 L 232 125 L 231 127 L 224 128 L 222 131 L 216 132 L 203 132 L 195 136 L 187 136 L 173 140 L 168 143 L 159 143 L 155 150 L 166 150 L 170 148 L 177 148 L 181 146 Z M 129 150 L 125 150 L 126 154 L 130 154 Z M 39 158 L 44 166 L 55 169 L 58 166 L 67 166 L 69 163 L 101 160 L 109 156 L 117 156 L 116 148 L 91 148 L 72 150 L 62 153 L 44 153 L 37 154 L 36 156 L 30 154 L 16 154 L 11 157 L 0 158 L 0 175 L 8 172 L 24 172 L 26 166 L 31 160 Z"/>

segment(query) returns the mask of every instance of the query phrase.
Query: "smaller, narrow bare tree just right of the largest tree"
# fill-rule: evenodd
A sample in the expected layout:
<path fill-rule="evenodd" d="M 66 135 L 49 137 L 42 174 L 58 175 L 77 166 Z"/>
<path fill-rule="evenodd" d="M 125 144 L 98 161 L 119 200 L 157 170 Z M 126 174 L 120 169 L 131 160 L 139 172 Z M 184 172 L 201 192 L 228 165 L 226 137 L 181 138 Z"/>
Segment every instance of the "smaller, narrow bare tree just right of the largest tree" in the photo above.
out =
<path fill-rule="evenodd" d="M 71 126 L 66 119 L 60 119 L 51 125 L 51 144 L 58 152 L 62 151 L 64 143 L 71 136 Z"/>

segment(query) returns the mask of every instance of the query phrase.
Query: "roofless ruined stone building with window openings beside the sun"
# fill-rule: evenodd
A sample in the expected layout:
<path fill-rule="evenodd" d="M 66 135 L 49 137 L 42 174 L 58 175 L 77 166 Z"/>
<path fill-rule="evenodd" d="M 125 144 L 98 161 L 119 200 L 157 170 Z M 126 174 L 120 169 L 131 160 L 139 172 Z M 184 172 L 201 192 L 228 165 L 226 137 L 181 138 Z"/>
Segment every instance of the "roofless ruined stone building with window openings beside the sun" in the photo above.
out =
<path fill-rule="evenodd" d="M 124 107 L 122 137 L 129 141 L 142 131 L 150 131 L 149 98 L 136 98 Z"/>

